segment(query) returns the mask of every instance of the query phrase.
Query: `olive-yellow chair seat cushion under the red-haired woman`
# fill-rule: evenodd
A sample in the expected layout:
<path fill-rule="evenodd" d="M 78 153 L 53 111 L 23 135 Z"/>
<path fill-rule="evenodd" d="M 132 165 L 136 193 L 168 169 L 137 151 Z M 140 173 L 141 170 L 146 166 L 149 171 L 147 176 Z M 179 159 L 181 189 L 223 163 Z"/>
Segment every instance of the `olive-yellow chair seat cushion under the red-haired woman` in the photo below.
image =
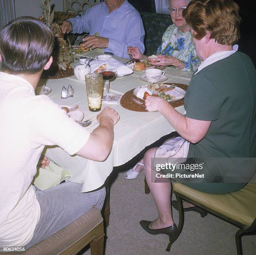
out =
<path fill-rule="evenodd" d="M 248 183 L 243 189 L 228 194 L 209 194 L 176 182 L 175 192 L 244 226 L 251 226 L 256 218 L 256 183 Z"/>

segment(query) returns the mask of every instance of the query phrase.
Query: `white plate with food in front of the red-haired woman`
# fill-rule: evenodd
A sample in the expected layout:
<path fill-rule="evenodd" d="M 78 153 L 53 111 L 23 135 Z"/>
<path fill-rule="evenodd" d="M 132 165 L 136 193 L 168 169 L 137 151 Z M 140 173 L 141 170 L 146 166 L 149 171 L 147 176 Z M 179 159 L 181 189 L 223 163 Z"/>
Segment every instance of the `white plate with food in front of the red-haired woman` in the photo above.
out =
<path fill-rule="evenodd" d="M 133 94 L 142 100 L 145 100 L 148 95 L 152 95 L 162 97 L 168 102 L 175 102 L 184 98 L 186 92 L 175 85 L 151 83 L 134 89 Z"/>

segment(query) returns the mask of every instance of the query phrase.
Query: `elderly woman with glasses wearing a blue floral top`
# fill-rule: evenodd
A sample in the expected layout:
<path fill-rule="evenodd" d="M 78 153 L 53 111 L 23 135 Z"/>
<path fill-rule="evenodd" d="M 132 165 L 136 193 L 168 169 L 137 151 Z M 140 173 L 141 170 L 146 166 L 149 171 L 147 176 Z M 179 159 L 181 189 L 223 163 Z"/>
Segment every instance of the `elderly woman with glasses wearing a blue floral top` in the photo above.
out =
<path fill-rule="evenodd" d="M 149 59 L 152 65 L 174 66 L 184 71 L 195 71 L 200 65 L 189 31 L 190 26 L 182 17 L 182 11 L 187 8 L 189 2 L 190 0 L 168 0 L 173 24 L 166 29 L 162 37 L 161 45 L 156 51 L 157 57 Z M 148 59 L 137 47 L 128 47 L 127 53 L 134 59 Z"/>

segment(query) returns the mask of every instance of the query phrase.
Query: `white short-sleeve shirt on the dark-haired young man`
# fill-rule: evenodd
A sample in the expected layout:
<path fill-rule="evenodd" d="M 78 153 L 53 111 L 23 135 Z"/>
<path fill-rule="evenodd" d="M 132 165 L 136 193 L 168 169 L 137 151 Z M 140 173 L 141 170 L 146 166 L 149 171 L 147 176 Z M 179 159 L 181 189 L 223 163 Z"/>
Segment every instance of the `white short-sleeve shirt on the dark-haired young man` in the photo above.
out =
<path fill-rule="evenodd" d="M 40 206 L 31 186 L 45 145 L 70 155 L 90 132 L 25 79 L 0 72 L 0 250 L 24 246 L 33 237 Z"/>

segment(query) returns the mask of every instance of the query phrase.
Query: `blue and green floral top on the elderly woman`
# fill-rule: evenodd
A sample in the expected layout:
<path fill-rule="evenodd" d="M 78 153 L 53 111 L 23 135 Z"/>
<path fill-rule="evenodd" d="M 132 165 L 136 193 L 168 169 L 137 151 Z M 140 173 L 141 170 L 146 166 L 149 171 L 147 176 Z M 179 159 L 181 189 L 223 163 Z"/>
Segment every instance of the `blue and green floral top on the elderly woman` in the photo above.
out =
<path fill-rule="evenodd" d="M 156 55 L 173 56 L 185 63 L 184 71 L 196 71 L 200 59 L 195 51 L 192 34 L 187 31 L 182 33 L 174 24 L 169 26 L 162 37 L 162 43 Z"/>

